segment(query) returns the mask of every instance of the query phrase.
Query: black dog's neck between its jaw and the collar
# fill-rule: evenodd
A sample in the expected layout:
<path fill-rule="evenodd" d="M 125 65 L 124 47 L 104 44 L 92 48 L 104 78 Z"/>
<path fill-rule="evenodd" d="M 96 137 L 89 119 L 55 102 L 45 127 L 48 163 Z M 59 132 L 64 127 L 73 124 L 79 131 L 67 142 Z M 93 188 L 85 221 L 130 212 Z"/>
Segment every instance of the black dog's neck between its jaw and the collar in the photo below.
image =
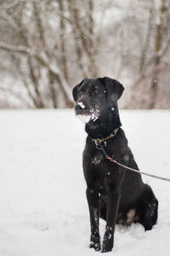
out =
<path fill-rule="evenodd" d="M 116 111 L 108 111 L 106 114 L 103 113 L 99 116 L 99 119 L 95 121 L 90 120 L 85 126 L 85 131 L 88 133 L 89 137 L 101 139 L 109 137 L 111 133 L 121 125 L 118 110 L 116 109 Z"/>

